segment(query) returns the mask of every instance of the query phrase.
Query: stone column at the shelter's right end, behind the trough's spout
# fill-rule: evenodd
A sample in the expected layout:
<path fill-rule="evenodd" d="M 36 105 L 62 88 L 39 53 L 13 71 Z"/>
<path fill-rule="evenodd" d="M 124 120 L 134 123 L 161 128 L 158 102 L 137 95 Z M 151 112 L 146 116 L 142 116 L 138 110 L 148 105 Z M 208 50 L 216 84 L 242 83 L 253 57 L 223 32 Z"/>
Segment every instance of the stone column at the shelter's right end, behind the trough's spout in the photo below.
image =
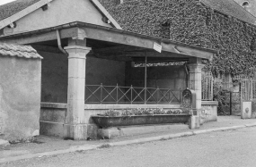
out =
<path fill-rule="evenodd" d="M 199 110 L 201 109 L 202 104 L 202 68 L 204 65 L 201 63 L 201 59 L 193 58 L 190 59 L 190 63 L 188 64 L 190 69 L 190 84 L 189 88 L 193 92 L 192 96 L 192 108 L 194 111 L 194 115 L 190 119 L 190 129 L 199 128 L 200 117 Z"/>

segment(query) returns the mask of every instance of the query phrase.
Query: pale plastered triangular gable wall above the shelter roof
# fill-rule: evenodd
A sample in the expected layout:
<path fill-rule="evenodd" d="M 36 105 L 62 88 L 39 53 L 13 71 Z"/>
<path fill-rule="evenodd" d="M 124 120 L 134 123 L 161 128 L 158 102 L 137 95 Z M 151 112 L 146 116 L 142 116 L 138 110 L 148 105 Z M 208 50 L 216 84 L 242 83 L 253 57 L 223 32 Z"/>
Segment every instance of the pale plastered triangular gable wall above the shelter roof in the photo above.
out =
<path fill-rule="evenodd" d="M 16 21 L 16 28 L 4 28 L 4 35 L 46 29 L 74 21 L 112 27 L 102 21 L 102 13 L 93 6 L 90 0 L 54 0 L 50 3 L 48 10 L 43 11 L 40 8 Z"/>

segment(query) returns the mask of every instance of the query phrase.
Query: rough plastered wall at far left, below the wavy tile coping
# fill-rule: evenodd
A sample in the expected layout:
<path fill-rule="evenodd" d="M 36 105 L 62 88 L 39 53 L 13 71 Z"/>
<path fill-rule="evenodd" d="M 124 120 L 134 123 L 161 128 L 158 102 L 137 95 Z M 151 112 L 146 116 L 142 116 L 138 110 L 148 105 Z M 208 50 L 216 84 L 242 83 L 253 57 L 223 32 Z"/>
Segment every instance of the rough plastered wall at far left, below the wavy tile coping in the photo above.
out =
<path fill-rule="evenodd" d="M 0 55 L 0 129 L 4 139 L 28 139 L 40 129 L 40 59 Z"/>

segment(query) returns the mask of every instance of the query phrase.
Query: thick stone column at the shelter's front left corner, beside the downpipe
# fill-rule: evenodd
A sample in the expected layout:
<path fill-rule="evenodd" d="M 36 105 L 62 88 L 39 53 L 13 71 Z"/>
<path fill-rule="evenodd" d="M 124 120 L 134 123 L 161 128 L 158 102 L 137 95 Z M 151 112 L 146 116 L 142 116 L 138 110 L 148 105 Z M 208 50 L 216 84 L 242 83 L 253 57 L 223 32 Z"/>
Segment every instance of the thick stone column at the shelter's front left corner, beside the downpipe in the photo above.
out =
<path fill-rule="evenodd" d="M 89 118 L 84 114 L 84 87 L 86 54 L 91 48 L 86 47 L 85 39 L 70 39 L 65 50 L 68 53 L 68 88 L 64 135 L 75 140 L 87 139 Z"/>

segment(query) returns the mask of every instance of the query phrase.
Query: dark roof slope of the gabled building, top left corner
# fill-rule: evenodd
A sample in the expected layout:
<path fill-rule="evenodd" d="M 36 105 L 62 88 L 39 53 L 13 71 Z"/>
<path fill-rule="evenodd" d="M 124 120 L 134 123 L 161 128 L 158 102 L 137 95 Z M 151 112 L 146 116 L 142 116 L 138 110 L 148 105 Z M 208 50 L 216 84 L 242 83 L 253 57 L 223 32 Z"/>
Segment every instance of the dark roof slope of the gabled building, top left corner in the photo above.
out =
<path fill-rule="evenodd" d="M 15 13 L 21 12 L 32 4 L 39 2 L 40 0 L 17 0 L 12 3 L 4 4 L 0 6 L 0 21 L 12 16 Z"/>

